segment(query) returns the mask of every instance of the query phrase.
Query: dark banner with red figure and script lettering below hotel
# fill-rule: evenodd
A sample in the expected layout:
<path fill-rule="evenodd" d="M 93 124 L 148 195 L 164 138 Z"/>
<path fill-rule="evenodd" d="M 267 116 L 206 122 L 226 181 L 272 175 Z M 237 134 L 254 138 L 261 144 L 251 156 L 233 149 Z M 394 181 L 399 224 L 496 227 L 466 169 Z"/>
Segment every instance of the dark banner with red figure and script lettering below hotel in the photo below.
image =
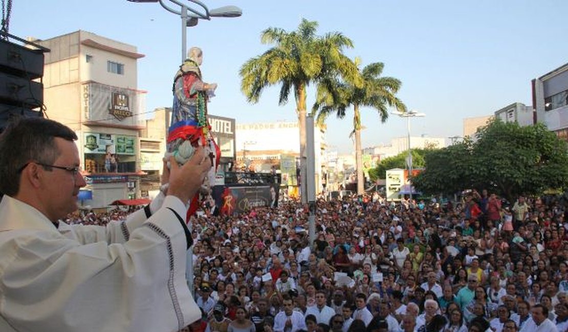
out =
<path fill-rule="evenodd" d="M 278 207 L 278 184 L 251 187 L 225 187 L 220 194 L 220 210 L 232 215 L 252 210 L 255 207 Z M 215 195 L 215 193 L 214 193 Z"/>

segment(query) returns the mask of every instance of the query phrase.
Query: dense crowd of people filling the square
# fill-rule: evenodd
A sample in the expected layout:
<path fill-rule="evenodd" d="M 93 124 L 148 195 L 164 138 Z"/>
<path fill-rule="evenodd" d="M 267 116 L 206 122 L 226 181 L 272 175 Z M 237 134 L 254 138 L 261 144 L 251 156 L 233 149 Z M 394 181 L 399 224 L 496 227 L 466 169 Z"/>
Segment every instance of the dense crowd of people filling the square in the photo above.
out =
<path fill-rule="evenodd" d="M 193 222 L 192 331 L 568 330 L 564 207 L 483 190 L 458 203 L 377 193 Z"/>

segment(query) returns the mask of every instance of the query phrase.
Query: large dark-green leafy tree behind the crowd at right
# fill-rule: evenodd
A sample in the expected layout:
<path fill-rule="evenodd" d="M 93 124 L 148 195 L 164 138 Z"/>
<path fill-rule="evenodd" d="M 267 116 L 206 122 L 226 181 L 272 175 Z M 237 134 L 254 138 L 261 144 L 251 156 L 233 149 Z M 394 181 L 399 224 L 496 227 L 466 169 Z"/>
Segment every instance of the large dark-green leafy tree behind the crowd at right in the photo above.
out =
<path fill-rule="evenodd" d="M 425 171 L 414 179 L 416 188 L 430 194 L 487 189 L 512 202 L 519 195 L 568 185 L 566 142 L 544 125 L 494 120 L 476 135 L 476 142 L 426 158 Z"/>

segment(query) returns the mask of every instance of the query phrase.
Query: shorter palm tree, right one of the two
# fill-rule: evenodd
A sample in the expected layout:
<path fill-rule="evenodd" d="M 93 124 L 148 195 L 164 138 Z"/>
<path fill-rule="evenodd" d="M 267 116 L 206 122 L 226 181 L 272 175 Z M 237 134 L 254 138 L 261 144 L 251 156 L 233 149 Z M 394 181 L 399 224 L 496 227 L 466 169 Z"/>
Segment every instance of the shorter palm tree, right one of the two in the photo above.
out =
<path fill-rule="evenodd" d="M 356 58 L 354 65 L 360 65 Z M 395 107 L 399 112 L 406 112 L 406 106 L 396 97 L 400 89 L 400 80 L 392 77 L 381 77 L 385 65 L 382 62 L 370 63 L 361 70 L 362 86 L 356 86 L 349 80 L 330 79 L 318 86 L 318 96 L 312 113 L 318 113 L 318 123 L 335 112 L 338 118 L 345 117 L 345 110 L 353 105 L 353 131 L 355 135 L 355 157 L 357 163 L 357 194 L 364 191 L 363 158 L 361 154 L 361 113 L 360 107 L 377 110 L 381 122 L 389 118 L 387 107 Z"/>

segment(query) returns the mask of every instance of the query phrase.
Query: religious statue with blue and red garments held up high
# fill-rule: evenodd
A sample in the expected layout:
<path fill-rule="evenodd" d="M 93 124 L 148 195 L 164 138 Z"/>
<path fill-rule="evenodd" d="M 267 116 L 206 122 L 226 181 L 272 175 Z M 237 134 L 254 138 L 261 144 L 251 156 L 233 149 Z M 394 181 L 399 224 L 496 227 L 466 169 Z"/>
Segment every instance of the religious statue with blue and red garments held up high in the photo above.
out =
<path fill-rule="evenodd" d="M 202 146 L 211 158 L 210 172 L 203 182 L 203 191 L 210 191 L 215 181 L 216 168 L 219 165 L 220 149 L 215 143 L 207 121 L 207 102 L 215 96 L 215 83 L 202 80 L 199 66 L 203 61 L 203 52 L 192 47 L 187 52 L 187 59 L 179 66 L 173 83 L 172 120 L 168 130 L 166 158 L 174 156 L 179 164 L 184 164 L 193 156 L 195 148 Z M 195 195 L 187 215 L 193 214 L 198 204 Z"/>

